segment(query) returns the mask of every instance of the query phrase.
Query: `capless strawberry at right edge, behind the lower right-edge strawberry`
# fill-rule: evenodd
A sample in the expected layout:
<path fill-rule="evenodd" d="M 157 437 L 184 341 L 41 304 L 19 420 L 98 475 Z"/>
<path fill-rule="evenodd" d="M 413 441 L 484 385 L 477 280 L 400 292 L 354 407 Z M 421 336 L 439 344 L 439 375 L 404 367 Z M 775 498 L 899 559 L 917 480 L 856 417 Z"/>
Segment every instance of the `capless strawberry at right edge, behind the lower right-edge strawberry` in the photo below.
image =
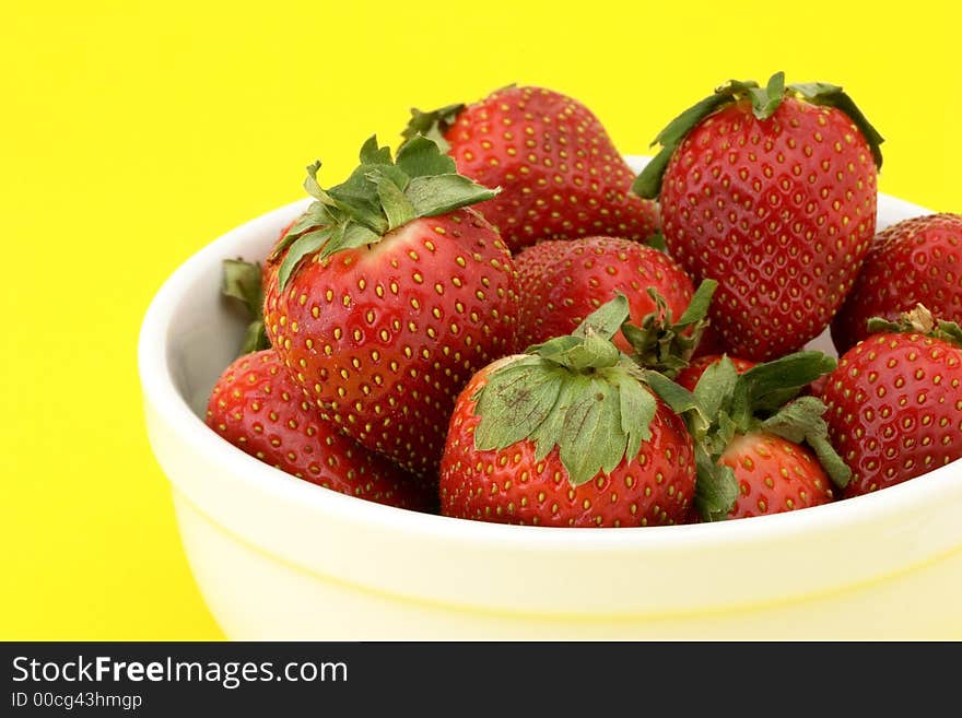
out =
<path fill-rule="evenodd" d="M 929 214 L 880 232 L 848 299 L 832 321 L 844 354 L 869 336 L 868 320 L 896 320 L 924 304 L 936 317 L 962 321 L 962 214 Z"/>

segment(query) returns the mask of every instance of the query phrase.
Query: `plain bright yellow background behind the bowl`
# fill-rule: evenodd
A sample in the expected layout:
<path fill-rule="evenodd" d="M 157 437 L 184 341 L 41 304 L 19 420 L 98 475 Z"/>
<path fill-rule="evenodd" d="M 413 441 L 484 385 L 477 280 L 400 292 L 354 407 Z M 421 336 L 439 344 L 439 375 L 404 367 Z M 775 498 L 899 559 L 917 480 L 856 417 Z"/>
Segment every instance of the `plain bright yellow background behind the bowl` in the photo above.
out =
<path fill-rule="evenodd" d="M 302 197 L 316 157 L 341 179 L 412 105 L 542 84 L 640 153 L 715 85 L 784 69 L 854 95 L 882 191 L 962 212 L 962 10 L 778 7 L 0 3 L 0 638 L 221 636 L 146 443 L 141 318 L 190 254 Z"/>

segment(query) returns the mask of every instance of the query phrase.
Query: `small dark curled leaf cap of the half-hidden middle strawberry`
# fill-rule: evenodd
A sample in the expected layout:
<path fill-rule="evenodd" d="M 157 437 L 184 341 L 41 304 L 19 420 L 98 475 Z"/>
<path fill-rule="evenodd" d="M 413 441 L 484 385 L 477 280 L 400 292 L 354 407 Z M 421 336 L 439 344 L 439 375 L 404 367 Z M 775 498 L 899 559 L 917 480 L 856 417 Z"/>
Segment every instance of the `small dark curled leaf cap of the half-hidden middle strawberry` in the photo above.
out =
<path fill-rule="evenodd" d="M 665 297 L 649 286 L 648 296 L 654 299 L 656 310 L 645 315 L 637 327 L 631 323 L 622 327 L 624 338 L 634 350 L 632 358 L 644 368 L 673 378 L 689 365 L 708 328 L 705 317 L 716 289 L 718 282 L 704 280 L 678 321 L 672 321 Z"/>

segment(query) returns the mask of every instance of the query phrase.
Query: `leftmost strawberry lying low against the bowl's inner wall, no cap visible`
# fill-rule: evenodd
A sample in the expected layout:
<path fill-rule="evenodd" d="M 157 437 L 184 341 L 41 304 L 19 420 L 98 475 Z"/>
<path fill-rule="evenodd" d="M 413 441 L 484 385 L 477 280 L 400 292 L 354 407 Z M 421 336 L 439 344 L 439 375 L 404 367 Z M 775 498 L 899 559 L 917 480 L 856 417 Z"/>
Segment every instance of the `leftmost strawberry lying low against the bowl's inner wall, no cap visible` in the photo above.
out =
<path fill-rule="evenodd" d="M 298 479 L 359 498 L 427 510 L 435 490 L 320 419 L 273 350 L 235 360 L 214 385 L 207 424 Z"/>

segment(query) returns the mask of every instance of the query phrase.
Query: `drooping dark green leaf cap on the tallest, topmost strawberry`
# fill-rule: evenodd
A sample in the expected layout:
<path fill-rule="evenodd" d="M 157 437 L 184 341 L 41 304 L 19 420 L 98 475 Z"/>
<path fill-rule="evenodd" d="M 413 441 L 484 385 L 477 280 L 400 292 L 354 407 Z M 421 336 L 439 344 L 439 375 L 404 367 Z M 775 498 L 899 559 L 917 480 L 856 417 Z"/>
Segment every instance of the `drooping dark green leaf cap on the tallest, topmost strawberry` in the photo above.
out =
<path fill-rule="evenodd" d="M 652 141 L 650 146 L 661 145 L 661 150 L 645 166 L 632 185 L 632 192 L 643 199 L 657 199 L 661 192 L 661 179 L 671 155 L 684 140 L 685 136 L 697 127 L 702 120 L 723 107 L 750 101 L 752 114 L 760 120 L 770 118 L 782 105 L 786 96 L 796 96 L 813 105 L 835 107 L 845 113 L 865 136 L 871 149 L 876 167 L 882 166 L 880 145 L 884 139 L 872 127 L 868 118 L 856 106 L 841 86 L 825 82 L 808 82 L 786 85 L 785 73 L 776 72 L 764 87 L 753 80 L 729 80 L 715 92 L 696 103 L 671 120 Z"/>

